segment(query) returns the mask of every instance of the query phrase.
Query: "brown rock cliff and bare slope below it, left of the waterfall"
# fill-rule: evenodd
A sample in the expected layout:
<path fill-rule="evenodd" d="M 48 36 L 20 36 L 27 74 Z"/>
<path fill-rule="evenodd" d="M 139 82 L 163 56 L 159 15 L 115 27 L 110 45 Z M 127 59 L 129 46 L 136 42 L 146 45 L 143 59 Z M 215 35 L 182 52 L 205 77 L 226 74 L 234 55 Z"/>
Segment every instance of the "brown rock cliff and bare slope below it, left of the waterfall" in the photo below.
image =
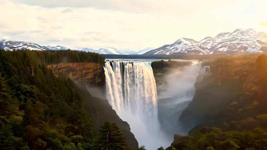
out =
<path fill-rule="evenodd" d="M 107 100 L 92 97 L 89 95 L 86 87 L 83 88 L 84 86 L 104 87 L 105 76 L 102 63 L 59 63 L 47 65 L 47 68 L 51 69 L 55 76 L 71 78 L 82 87 L 78 90 L 79 95 L 86 100 L 86 110 L 92 115 L 94 126 L 97 129 L 99 129 L 106 120 L 115 122 L 120 127 L 127 144 L 134 150 L 138 149 L 138 142 L 131 132 L 130 125 L 123 121 L 116 112 L 112 110 Z"/>

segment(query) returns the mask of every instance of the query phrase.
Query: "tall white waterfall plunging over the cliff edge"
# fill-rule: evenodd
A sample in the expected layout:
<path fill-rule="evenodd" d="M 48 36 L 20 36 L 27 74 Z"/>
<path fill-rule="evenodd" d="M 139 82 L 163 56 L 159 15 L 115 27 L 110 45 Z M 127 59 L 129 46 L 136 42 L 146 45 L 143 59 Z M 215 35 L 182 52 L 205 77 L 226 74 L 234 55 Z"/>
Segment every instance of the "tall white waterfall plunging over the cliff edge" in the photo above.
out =
<path fill-rule="evenodd" d="M 144 145 L 147 150 L 170 146 L 172 141 L 159 127 L 157 87 L 150 63 L 106 62 L 104 71 L 107 99 L 130 124 L 139 146 Z"/>

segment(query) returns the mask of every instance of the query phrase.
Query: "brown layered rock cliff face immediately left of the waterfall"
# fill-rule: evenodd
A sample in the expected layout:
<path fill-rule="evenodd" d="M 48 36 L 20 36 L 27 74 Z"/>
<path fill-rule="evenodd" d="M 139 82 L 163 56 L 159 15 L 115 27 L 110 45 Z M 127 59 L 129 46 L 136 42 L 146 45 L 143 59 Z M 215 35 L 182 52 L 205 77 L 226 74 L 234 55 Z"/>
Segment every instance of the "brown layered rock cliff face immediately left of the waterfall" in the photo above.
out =
<path fill-rule="evenodd" d="M 69 77 L 77 84 L 104 85 L 104 69 L 101 63 L 59 63 L 47 65 L 56 76 Z"/>

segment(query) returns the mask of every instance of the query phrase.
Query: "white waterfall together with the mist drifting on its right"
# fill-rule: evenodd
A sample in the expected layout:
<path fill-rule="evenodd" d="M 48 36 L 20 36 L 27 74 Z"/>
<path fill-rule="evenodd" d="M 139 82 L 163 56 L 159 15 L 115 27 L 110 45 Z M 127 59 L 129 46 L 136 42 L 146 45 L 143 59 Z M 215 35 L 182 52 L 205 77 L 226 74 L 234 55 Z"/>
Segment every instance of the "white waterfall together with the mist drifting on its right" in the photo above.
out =
<path fill-rule="evenodd" d="M 105 63 L 109 104 L 130 124 L 139 146 L 167 148 L 174 134 L 186 133 L 179 128 L 178 118 L 194 96 L 199 68 L 200 64 L 192 61 L 191 66 L 172 69 L 164 75 L 166 83 L 157 87 L 149 62 Z"/>

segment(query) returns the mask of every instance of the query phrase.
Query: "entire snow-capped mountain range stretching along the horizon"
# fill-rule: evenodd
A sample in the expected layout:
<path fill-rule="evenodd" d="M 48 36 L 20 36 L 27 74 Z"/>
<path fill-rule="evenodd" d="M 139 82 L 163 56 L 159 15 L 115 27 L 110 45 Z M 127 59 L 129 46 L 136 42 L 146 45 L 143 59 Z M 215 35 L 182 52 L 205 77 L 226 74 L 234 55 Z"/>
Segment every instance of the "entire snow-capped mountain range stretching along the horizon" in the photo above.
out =
<path fill-rule="evenodd" d="M 43 46 L 25 41 L 0 40 L 0 49 L 4 50 L 67 50 L 64 46 Z M 237 29 L 233 32 L 220 33 L 216 37 L 206 37 L 200 41 L 191 38 L 181 38 L 172 44 L 153 49 L 145 48 L 139 51 L 108 48 L 81 48 L 79 50 L 99 54 L 115 55 L 212 55 L 212 54 L 246 54 L 267 52 L 267 34 L 253 29 Z"/>

